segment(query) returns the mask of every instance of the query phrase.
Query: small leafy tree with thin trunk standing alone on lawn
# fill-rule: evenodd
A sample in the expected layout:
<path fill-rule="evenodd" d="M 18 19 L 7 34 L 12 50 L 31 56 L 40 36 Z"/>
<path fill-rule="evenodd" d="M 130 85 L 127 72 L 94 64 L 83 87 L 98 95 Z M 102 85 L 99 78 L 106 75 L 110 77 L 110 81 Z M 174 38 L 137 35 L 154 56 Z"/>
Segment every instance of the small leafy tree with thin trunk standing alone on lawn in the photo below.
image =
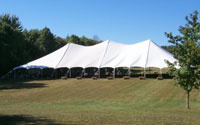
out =
<path fill-rule="evenodd" d="M 190 92 L 199 89 L 200 86 L 200 22 L 198 22 L 198 12 L 194 11 L 189 17 L 186 16 L 187 23 L 180 26 L 180 35 L 173 36 L 172 33 L 165 33 L 169 42 L 174 47 L 174 58 L 177 62 L 170 63 L 170 75 L 174 76 L 174 84 L 182 87 L 186 91 L 186 108 L 189 109 Z M 179 68 L 175 68 L 179 65 Z"/>

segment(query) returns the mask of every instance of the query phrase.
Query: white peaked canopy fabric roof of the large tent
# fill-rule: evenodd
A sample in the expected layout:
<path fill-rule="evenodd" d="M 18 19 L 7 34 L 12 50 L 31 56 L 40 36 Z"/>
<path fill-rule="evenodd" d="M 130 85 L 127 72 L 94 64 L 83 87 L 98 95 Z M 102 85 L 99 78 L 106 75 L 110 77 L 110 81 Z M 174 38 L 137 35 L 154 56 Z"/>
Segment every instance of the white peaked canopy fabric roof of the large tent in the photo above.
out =
<path fill-rule="evenodd" d="M 165 68 L 165 60 L 174 62 L 173 55 L 151 40 L 125 45 L 106 40 L 93 46 L 69 43 L 64 47 L 18 68 L 74 67 L 157 67 Z"/>

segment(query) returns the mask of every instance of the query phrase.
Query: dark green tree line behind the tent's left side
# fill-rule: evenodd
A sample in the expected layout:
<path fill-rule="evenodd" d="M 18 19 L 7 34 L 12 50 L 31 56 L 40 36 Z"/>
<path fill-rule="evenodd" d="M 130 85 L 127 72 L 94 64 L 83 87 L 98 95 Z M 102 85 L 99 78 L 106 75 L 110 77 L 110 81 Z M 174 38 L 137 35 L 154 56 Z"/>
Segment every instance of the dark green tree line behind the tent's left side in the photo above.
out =
<path fill-rule="evenodd" d="M 3 14 L 0 16 L 0 76 L 67 43 L 89 46 L 98 41 L 76 35 L 61 38 L 54 35 L 48 27 L 27 30 L 17 16 Z"/>

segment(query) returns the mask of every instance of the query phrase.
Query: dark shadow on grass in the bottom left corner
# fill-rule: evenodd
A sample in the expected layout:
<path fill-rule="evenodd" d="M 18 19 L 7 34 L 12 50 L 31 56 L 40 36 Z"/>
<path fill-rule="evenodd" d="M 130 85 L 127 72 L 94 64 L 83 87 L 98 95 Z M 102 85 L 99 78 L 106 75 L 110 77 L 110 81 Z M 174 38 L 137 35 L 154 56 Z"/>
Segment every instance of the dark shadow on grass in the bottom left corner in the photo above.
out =
<path fill-rule="evenodd" d="M 1 125 L 61 125 L 51 119 L 37 118 L 25 115 L 1 115 Z"/>

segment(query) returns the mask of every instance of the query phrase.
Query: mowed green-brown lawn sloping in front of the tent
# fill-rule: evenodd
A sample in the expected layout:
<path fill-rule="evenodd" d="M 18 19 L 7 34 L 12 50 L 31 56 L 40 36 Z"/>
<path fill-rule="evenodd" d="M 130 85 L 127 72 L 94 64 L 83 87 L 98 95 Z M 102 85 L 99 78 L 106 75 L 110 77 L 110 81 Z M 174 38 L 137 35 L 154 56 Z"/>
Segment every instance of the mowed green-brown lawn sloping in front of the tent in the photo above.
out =
<path fill-rule="evenodd" d="M 0 82 L 2 124 L 200 124 L 200 91 L 173 80 L 67 79 Z"/>

